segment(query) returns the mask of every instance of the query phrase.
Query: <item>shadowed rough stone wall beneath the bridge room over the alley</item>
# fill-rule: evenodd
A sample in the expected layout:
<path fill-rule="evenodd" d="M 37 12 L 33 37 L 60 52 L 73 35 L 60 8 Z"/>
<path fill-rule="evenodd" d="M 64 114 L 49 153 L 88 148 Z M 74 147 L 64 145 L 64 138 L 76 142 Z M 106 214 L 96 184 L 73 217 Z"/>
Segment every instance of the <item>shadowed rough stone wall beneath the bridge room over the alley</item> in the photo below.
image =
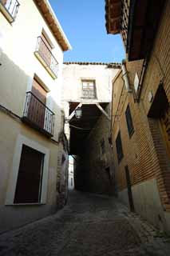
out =
<path fill-rule="evenodd" d="M 110 113 L 110 104 L 106 108 Z M 85 151 L 75 162 L 75 188 L 98 194 L 114 194 L 115 178 L 111 146 L 110 122 L 104 114 L 85 142 Z"/>

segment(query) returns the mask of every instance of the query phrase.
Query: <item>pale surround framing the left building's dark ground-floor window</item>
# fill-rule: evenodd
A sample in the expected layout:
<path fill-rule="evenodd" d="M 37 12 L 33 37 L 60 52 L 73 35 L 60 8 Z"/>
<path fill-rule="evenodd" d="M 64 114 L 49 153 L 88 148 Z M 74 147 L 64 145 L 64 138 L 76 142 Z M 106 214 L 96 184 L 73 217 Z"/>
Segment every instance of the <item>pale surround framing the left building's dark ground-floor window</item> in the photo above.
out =
<path fill-rule="evenodd" d="M 20 160 L 22 156 L 22 145 L 30 146 L 34 150 L 38 150 L 40 153 L 44 154 L 44 166 L 42 170 L 42 194 L 41 200 L 37 203 L 14 203 L 14 195 L 17 186 L 18 180 L 18 171 Z M 6 192 L 6 205 L 39 205 L 45 204 L 47 198 L 47 189 L 48 189 L 48 175 L 49 175 L 49 149 L 45 146 L 42 146 L 38 142 L 31 140 L 30 138 L 26 138 L 25 136 L 19 134 L 17 138 L 17 142 L 14 149 L 14 158 L 13 165 L 10 174 L 10 179 L 8 183 L 8 188 Z"/>

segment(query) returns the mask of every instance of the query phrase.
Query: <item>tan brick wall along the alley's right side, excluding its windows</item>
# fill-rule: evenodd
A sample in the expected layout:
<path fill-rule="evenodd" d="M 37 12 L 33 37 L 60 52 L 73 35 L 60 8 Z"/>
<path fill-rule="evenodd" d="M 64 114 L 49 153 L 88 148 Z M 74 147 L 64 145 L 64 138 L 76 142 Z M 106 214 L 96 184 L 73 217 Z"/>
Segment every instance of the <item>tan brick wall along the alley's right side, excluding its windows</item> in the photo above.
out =
<path fill-rule="evenodd" d="M 170 101 L 170 2 L 164 7 L 152 53 L 145 70 L 141 87 L 140 101 L 135 102 L 134 94 L 125 90 L 122 74 L 113 82 L 113 118 L 112 139 L 113 158 L 116 168 L 118 190 L 127 187 L 125 166 L 128 165 L 132 186 L 156 178 L 163 209 L 170 211 L 170 162 L 164 138 L 160 130 L 159 118 L 148 115 L 156 98 L 156 92 L 163 82 L 168 102 Z M 134 91 L 134 78 L 137 73 L 140 77 L 143 60 L 126 62 L 128 78 L 132 92 Z M 149 102 L 148 95 L 152 93 L 153 100 Z M 156 104 L 156 103 L 155 103 Z M 125 110 L 129 105 L 134 133 L 128 136 L 128 127 L 125 119 Z M 124 158 L 117 161 L 115 141 L 118 131 L 121 130 L 121 140 Z"/>

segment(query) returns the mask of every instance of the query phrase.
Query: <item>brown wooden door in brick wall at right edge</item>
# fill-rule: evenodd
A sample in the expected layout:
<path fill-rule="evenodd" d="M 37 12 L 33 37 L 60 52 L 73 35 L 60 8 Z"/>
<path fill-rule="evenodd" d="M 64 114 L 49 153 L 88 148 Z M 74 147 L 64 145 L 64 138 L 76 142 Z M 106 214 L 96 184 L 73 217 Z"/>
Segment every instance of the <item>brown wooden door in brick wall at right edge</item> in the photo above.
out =
<path fill-rule="evenodd" d="M 160 125 L 162 128 L 161 130 L 166 144 L 168 157 L 170 158 L 170 106 L 168 103 L 160 116 Z"/>

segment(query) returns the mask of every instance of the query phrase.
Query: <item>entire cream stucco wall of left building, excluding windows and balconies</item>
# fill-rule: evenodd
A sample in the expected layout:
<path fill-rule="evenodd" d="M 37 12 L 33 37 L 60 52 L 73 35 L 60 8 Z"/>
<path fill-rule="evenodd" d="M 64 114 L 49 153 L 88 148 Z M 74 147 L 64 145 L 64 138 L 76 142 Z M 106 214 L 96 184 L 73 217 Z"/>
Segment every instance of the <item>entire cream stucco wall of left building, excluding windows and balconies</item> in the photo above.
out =
<path fill-rule="evenodd" d="M 49 26 L 38 11 L 33 0 L 20 0 L 16 20 L 10 24 L 0 12 L 0 104 L 22 117 L 26 91 L 31 90 L 34 74 L 48 88 L 46 105 L 55 114 L 54 140 L 62 129 L 61 86 L 63 52 Z M 38 36 L 45 30 L 53 43 L 53 55 L 59 64 L 57 79 L 53 79 L 34 55 Z M 56 210 L 57 155 L 60 146 L 50 141 L 37 130 L 0 111 L 0 233 L 35 219 L 43 218 Z M 23 140 L 19 138 L 24 138 Z M 14 206 L 9 199 L 10 186 L 15 189 L 18 162 L 18 140 L 21 151 L 22 142 L 28 142 L 34 149 L 43 149 L 45 158 L 45 194 L 42 204 L 35 206 Z M 42 152 L 43 153 L 43 152 Z M 12 177 L 12 178 L 11 178 Z M 11 185 L 12 182 L 12 185 Z M 43 193 L 44 193 L 43 192 Z M 13 192 L 14 196 L 14 192 Z M 8 200 L 9 199 L 9 200 Z M 6 202 L 8 205 L 6 205 Z"/>

